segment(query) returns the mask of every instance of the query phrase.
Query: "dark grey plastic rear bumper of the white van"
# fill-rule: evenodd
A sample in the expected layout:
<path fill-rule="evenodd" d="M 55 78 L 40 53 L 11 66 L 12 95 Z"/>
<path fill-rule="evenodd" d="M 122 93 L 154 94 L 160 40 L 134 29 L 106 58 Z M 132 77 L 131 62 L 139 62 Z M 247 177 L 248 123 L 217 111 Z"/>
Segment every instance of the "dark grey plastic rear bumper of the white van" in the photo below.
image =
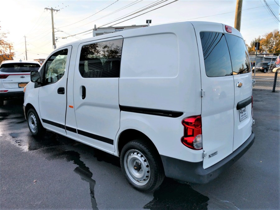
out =
<path fill-rule="evenodd" d="M 215 165 L 203 169 L 203 161 L 188 162 L 161 155 L 166 177 L 173 179 L 205 184 L 217 178 L 225 169 L 233 165 L 245 152 L 253 145 L 255 134 L 252 132 L 250 137 L 233 153 Z"/>

